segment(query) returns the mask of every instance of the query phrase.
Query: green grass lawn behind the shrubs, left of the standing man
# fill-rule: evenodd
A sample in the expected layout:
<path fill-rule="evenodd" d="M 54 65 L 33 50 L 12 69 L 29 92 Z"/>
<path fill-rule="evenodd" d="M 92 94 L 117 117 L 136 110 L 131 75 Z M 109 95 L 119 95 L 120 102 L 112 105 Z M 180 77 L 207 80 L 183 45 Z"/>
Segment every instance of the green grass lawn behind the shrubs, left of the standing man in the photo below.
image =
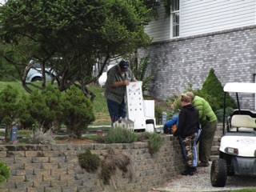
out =
<path fill-rule="evenodd" d="M 33 82 L 33 83 L 40 83 L 40 82 Z M 22 87 L 21 82 L 0 82 L 0 91 L 7 85 L 18 89 L 18 98 L 22 97 L 22 94 L 28 94 L 26 90 Z M 101 88 L 99 86 L 88 86 L 88 89 L 92 91 L 96 97 L 94 98 L 94 115 L 95 115 L 95 121 L 92 123 L 91 126 L 101 126 L 101 125 L 107 125 L 110 126 L 110 116 L 107 110 L 106 106 L 106 98 L 104 97 L 104 88 Z"/>

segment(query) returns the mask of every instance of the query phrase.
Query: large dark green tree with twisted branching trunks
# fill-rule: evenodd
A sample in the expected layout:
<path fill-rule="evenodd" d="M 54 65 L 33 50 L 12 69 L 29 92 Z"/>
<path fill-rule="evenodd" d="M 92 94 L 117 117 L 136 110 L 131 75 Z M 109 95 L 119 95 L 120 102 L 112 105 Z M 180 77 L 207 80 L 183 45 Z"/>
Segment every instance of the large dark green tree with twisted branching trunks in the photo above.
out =
<path fill-rule="evenodd" d="M 14 66 L 26 66 L 30 59 L 38 60 L 42 74 L 47 73 L 47 64 L 56 72 L 53 80 L 58 82 L 58 90 L 79 82 L 84 94 L 93 96 L 86 85 L 97 81 L 110 59 L 149 45 L 151 39 L 144 26 L 151 14 L 144 3 L 141 0 L 8 0 L 0 7 L 0 38 L 5 45 L 0 54 Z M 15 57 L 22 59 L 17 61 Z M 52 58 L 61 58 L 61 62 Z M 102 68 L 98 77 L 92 78 L 97 62 Z M 20 73 L 28 92 L 32 90 L 25 80 L 30 68 L 27 66 Z M 42 89 L 45 87 L 43 75 Z"/>

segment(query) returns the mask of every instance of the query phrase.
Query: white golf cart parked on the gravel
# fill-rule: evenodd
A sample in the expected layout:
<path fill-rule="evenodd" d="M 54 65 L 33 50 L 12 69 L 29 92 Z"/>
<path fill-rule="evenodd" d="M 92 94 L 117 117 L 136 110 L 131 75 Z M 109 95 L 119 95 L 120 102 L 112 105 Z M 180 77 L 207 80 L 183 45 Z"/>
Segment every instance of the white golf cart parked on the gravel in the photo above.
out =
<path fill-rule="evenodd" d="M 227 176 L 256 175 L 256 112 L 240 109 L 238 94 L 256 94 L 256 83 L 229 82 L 224 86 L 223 130 L 219 158 L 212 162 L 212 186 L 225 186 Z M 235 93 L 238 109 L 227 119 L 226 94 Z"/>

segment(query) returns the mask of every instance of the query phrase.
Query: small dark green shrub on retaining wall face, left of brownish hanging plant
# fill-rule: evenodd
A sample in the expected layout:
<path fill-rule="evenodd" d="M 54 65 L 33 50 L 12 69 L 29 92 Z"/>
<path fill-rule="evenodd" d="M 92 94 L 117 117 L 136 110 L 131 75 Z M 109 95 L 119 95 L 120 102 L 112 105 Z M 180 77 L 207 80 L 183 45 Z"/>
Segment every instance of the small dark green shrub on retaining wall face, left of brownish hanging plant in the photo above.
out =
<path fill-rule="evenodd" d="M 80 166 L 89 173 L 94 173 L 101 165 L 101 158 L 97 154 L 91 154 L 90 150 L 78 154 L 78 161 Z"/>

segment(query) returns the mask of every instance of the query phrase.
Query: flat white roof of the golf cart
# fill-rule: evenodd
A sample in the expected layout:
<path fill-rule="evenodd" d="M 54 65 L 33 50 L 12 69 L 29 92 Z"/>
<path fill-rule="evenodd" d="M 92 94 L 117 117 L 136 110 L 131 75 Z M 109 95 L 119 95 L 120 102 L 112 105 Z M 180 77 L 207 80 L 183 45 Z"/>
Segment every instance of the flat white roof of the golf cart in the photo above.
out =
<path fill-rule="evenodd" d="M 256 93 L 256 83 L 252 82 L 228 82 L 224 86 L 225 92 Z"/>

